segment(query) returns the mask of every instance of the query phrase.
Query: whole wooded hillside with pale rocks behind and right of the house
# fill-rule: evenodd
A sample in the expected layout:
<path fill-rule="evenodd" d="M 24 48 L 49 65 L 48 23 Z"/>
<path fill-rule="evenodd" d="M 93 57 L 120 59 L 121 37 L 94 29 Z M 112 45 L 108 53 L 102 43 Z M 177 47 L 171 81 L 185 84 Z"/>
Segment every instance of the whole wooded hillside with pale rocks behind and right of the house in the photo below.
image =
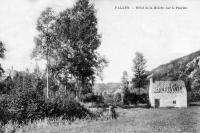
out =
<path fill-rule="evenodd" d="M 190 101 L 199 101 L 200 51 L 178 58 L 154 69 L 155 80 L 183 80 Z"/>

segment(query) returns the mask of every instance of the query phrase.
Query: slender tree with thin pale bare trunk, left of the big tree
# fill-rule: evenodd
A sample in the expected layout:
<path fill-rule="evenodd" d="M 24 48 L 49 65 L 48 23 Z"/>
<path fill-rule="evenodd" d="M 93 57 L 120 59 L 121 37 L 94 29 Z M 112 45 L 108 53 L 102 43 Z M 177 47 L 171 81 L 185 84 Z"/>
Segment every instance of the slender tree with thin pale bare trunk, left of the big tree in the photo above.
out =
<path fill-rule="evenodd" d="M 32 52 L 32 57 L 45 59 L 46 64 L 46 76 L 47 76 L 47 98 L 49 98 L 49 67 L 50 59 L 55 54 L 53 49 L 57 46 L 56 34 L 54 30 L 54 22 L 56 17 L 54 11 L 51 8 L 47 8 L 43 11 L 37 21 L 37 30 L 39 35 L 35 38 L 36 46 Z"/>

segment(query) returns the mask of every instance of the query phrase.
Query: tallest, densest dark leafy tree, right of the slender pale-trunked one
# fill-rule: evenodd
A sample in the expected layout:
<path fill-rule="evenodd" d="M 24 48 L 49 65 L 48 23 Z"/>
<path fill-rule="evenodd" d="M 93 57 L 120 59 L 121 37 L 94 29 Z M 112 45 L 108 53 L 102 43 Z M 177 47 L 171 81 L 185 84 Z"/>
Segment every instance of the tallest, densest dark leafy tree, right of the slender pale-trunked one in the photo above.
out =
<path fill-rule="evenodd" d="M 68 66 L 70 62 L 68 70 L 75 77 L 79 92 L 91 89 L 95 74 L 102 70 L 106 62 L 96 51 L 101 36 L 97 30 L 94 6 L 88 0 L 77 1 L 72 10 L 60 13 L 57 27 L 59 40 L 68 44 L 64 48 L 67 52 L 61 52 L 62 60 L 66 61 L 62 65 Z"/>

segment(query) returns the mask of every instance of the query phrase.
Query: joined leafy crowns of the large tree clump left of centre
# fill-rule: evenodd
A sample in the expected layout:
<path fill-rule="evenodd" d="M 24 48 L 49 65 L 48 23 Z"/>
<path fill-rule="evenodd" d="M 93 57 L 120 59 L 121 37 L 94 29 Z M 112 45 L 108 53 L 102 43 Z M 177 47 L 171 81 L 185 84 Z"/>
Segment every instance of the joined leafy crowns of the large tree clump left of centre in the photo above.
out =
<path fill-rule="evenodd" d="M 94 6 L 89 0 L 78 0 L 73 8 L 57 16 L 53 14 L 47 8 L 38 19 L 40 34 L 33 53 L 48 57 L 50 74 L 59 83 L 67 86 L 69 82 L 75 82 L 79 93 L 86 89 L 91 91 L 95 75 L 107 63 L 97 52 L 101 36 Z"/>

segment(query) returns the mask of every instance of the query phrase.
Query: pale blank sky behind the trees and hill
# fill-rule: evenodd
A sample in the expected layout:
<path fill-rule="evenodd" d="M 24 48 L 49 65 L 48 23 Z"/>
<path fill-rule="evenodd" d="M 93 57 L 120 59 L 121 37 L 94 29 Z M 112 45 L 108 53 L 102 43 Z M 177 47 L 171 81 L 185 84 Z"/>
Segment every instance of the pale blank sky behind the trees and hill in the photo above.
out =
<path fill-rule="evenodd" d="M 3 68 L 33 69 L 30 59 L 41 11 L 52 7 L 62 11 L 75 0 L 1 0 L 0 40 L 6 44 Z M 98 51 L 109 61 L 103 81 L 120 82 L 124 70 L 131 78 L 135 52 L 143 53 L 147 70 L 200 49 L 200 8 L 197 0 L 93 0 L 98 30 L 102 35 Z M 120 9 L 123 7 L 129 9 Z M 136 9 L 140 7 L 140 9 Z M 186 9 L 141 9 L 185 7 Z M 40 62 L 41 63 L 41 62 Z M 44 66 L 41 66 L 44 67 Z"/>

